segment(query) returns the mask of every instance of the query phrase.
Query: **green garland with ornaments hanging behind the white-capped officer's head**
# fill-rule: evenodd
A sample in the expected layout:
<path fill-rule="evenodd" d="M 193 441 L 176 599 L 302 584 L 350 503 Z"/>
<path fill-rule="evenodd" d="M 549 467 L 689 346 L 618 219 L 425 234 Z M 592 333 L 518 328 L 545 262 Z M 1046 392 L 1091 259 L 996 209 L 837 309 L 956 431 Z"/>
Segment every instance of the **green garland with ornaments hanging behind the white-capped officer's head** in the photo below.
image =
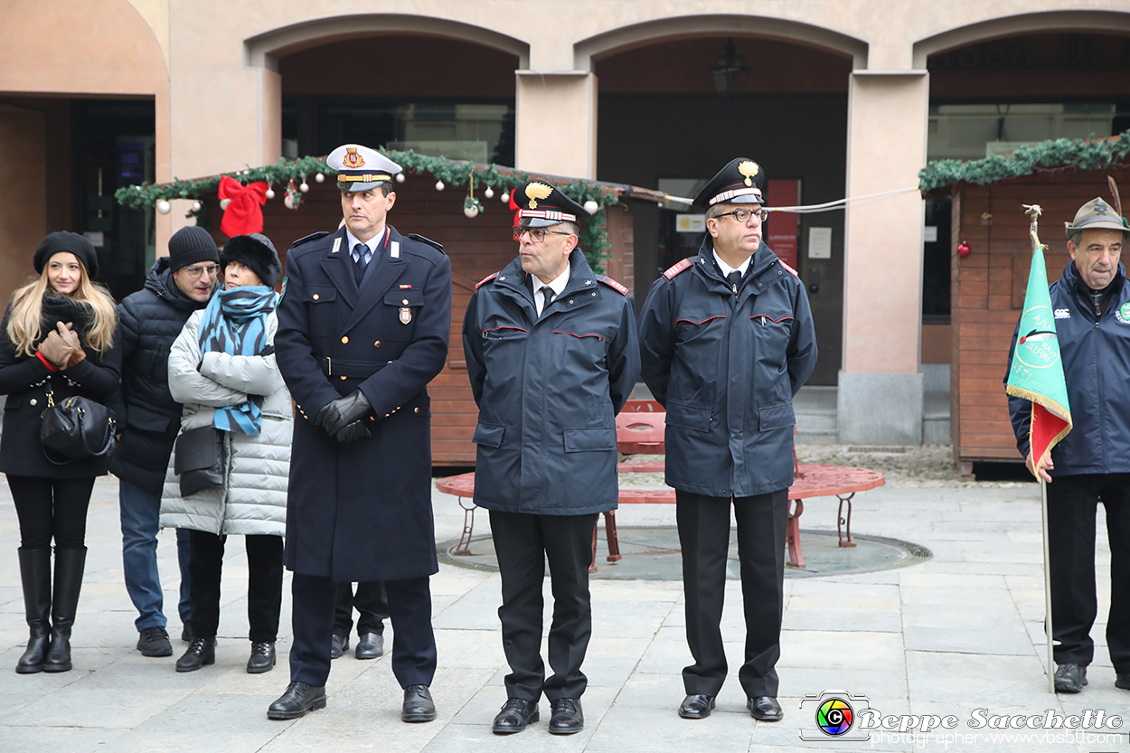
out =
<path fill-rule="evenodd" d="M 468 185 L 470 188 L 467 199 L 463 201 L 463 210 L 468 217 L 473 217 L 479 211 L 486 211 L 484 204 L 476 198 L 475 187 L 484 187 L 484 196 L 492 198 L 494 189 L 503 189 L 505 193 L 516 185 L 530 180 L 530 175 L 522 171 L 499 168 L 497 165 L 477 165 L 459 159 L 447 159 L 445 157 L 428 157 L 416 154 L 412 150 L 397 152 L 388 150 L 384 154 L 403 167 L 405 173 L 424 174 L 429 173 L 436 178 L 436 190 L 443 190 L 446 185 Z M 403 173 L 401 173 L 403 174 Z M 232 173 L 221 173 L 198 180 L 182 181 L 173 179 L 171 183 L 149 183 L 144 185 L 129 185 L 118 189 L 114 199 L 123 207 L 131 209 L 153 209 L 162 201 L 171 199 L 195 199 L 199 207 L 194 206 L 186 216 L 195 217 L 198 225 L 207 224 L 208 205 L 207 197 L 215 194 L 219 188 L 219 180 L 223 175 L 228 175 L 244 183 L 253 181 L 264 181 L 270 187 L 288 187 L 292 181 L 301 181 L 299 190 L 306 185 L 306 179 L 313 176 L 319 183 L 324 181 L 324 175 L 331 179 L 337 175 L 337 171 L 331 170 L 322 157 L 302 157 L 293 162 L 280 158 L 277 164 L 264 165 L 262 167 L 247 167 Z M 399 176 L 398 176 L 399 178 Z M 599 183 L 590 181 L 574 180 L 560 181 L 548 180 L 554 183 L 563 193 L 577 204 L 589 204 L 586 208 L 596 205 L 596 211 L 583 223 L 581 230 L 580 245 L 584 249 L 589 263 L 597 272 L 603 271 L 601 263 L 609 257 L 611 245 L 608 242 L 608 232 L 605 230 L 605 207 L 617 204 L 616 192 Z M 307 187 L 308 188 L 308 187 Z M 305 191 L 303 191 L 305 192 Z M 298 200 L 294 200 L 298 196 Z M 301 194 L 292 192 L 294 208 L 301 202 Z M 165 206 L 162 211 L 168 211 Z M 477 211 L 472 211 L 477 210 Z"/>

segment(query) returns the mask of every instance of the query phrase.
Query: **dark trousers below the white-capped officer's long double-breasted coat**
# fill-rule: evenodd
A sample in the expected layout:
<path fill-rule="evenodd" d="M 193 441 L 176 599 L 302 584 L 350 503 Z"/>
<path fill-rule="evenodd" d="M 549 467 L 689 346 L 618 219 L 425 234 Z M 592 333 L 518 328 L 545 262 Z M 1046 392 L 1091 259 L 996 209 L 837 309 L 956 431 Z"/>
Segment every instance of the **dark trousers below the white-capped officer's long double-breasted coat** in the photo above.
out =
<path fill-rule="evenodd" d="M 384 588 L 393 631 L 392 674 L 401 687 L 431 685 L 436 655 L 428 579 L 386 580 Z M 338 589 L 329 578 L 296 572 L 290 580 L 290 594 L 294 625 L 290 681 L 322 686 L 330 676 L 330 642 Z"/>

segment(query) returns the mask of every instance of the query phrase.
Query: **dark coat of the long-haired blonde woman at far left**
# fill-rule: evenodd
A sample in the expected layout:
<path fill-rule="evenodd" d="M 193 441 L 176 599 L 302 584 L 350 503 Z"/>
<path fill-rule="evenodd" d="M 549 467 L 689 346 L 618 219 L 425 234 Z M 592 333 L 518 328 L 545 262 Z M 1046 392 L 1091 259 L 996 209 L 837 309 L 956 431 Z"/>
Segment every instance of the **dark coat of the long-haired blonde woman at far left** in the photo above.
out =
<path fill-rule="evenodd" d="M 7 395 L 3 409 L 3 432 L 0 434 L 0 471 L 14 476 L 47 478 L 89 478 L 105 476 L 110 458 L 72 460 L 58 466 L 46 459 L 40 443 L 40 425 L 47 407 L 47 392 L 55 405 L 79 395 L 106 404 L 118 389 L 121 350 L 115 346 L 104 354 L 84 347 L 86 358 L 66 371 L 52 372 L 34 355 L 16 355 L 8 339 L 8 315 L 0 323 L 0 395 Z M 44 319 L 41 331 L 47 332 Z M 78 326 L 76 330 L 80 329 Z M 85 346 L 85 340 L 84 340 Z M 56 458 L 59 459 L 59 458 Z"/>

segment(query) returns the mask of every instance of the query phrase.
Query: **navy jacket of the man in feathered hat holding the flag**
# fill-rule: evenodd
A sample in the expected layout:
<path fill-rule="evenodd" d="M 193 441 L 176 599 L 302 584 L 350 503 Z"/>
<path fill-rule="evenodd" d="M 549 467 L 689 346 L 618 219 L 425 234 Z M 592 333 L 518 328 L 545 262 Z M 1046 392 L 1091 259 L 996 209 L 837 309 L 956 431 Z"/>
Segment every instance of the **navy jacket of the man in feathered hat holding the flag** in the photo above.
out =
<path fill-rule="evenodd" d="M 1130 473 L 1130 285 L 1125 280 L 1125 267 L 1120 263 L 1102 315 L 1095 314 L 1074 261 L 1049 289 L 1075 425 L 1052 449 L 1053 477 Z M 1014 331 L 1006 383 L 1016 337 Z M 1016 447 L 1027 457 L 1032 404 L 1010 396 L 1008 412 Z"/>

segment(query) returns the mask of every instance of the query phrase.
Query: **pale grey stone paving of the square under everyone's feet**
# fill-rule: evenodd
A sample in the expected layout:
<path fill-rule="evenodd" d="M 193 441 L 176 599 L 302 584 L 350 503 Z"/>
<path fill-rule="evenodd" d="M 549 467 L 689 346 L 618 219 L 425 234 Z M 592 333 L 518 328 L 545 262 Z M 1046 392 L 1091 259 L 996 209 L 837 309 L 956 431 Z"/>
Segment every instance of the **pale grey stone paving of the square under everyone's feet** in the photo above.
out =
<path fill-rule="evenodd" d="M 801 452 L 814 460 L 838 452 L 841 462 L 857 457 L 846 448 Z M 945 452 L 936 455 L 944 465 Z M 228 542 L 225 557 L 216 665 L 177 674 L 175 657 L 141 657 L 133 649 L 136 614 L 122 585 L 116 482 L 102 479 L 90 507 L 87 578 L 72 641 L 75 669 L 11 673 L 0 683 L 0 751 L 1128 750 L 1124 733 L 1119 738 L 1096 737 L 1094 732 L 1069 738 L 1063 730 L 974 730 L 966 725 L 975 709 L 991 715 L 1130 712 L 1130 693 L 1113 686 L 1104 624 L 1093 631 L 1098 647 L 1090 685 L 1075 696 L 1046 691 L 1038 487 L 959 483 L 956 468 L 918 474 L 905 458 L 868 459 L 872 466 L 906 468 L 892 474 L 894 483 L 858 496 L 853 529 L 921 544 L 933 559 L 903 570 L 785 581 L 779 663 L 783 721 L 755 722 L 745 709 L 736 676 L 744 634 L 739 583 L 728 585 L 723 622 L 731 677 L 716 712 L 688 721 L 675 712 L 684 695 L 679 672 L 689 661 L 680 583 L 599 580 L 592 583 L 586 725 L 583 733 L 565 738 L 546 734 L 545 701 L 542 721 L 532 728 L 511 737 L 490 734 L 490 720 L 505 700 L 498 580 L 457 566 L 444 565 L 432 580 L 440 654 L 433 684 L 440 717 L 432 724 L 400 722 L 400 689 L 386 657 L 357 661 L 351 654 L 333 664 L 325 710 L 296 721 L 269 721 L 267 706 L 287 683 L 289 598 L 284 600 L 279 667 L 246 674 L 246 562 L 240 537 Z M 12 667 L 27 632 L 16 563 L 18 526 L 6 485 L 0 496 L 6 497 L 0 500 L 0 666 Z M 434 505 L 437 540 L 458 538 L 462 512 L 454 499 L 436 493 Z M 673 505 L 627 505 L 617 517 L 621 526 L 663 526 L 673 525 Z M 805 521 L 806 527 L 834 529 L 835 500 L 807 503 Z M 486 516 L 480 516 L 476 533 L 487 533 Z M 1101 535 L 1101 621 L 1110 591 L 1104 539 Z M 159 556 L 166 612 L 175 613 L 172 531 L 162 534 Z M 171 632 L 180 633 L 175 616 Z M 176 654 L 183 648 L 174 640 Z M 814 711 L 800 709 L 801 699 L 825 690 L 866 695 L 884 715 L 954 715 L 958 728 L 948 733 L 951 738 L 888 733 L 859 743 L 802 741 L 801 734 L 819 733 Z"/>

